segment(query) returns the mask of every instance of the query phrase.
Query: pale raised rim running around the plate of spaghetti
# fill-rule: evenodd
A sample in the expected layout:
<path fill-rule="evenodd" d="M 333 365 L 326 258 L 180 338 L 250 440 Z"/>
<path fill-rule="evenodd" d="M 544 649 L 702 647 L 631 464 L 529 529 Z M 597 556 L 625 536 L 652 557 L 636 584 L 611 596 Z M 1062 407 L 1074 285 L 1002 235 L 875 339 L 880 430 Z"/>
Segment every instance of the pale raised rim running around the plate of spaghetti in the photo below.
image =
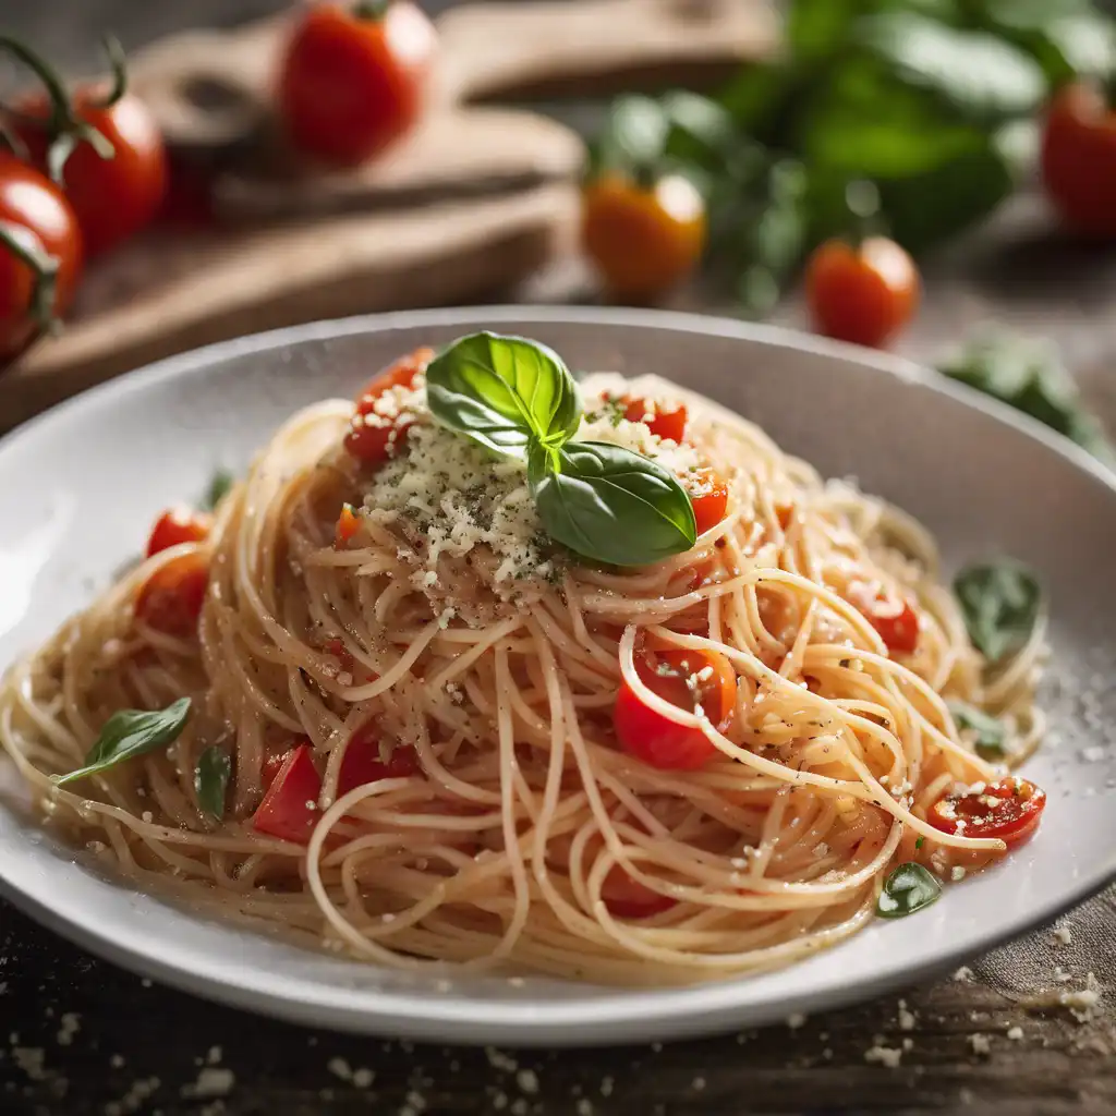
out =
<path fill-rule="evenodd" d="M 484 325 L 517 321 L 637 330 L 663 328 L 852 360 L 917 383 L 964 406 L 983 412 L 994 421 L 1040 442 L 1116 496 L 1116 472 L 1104 466 L 1084 449 L 1007 404 L 991 400 L 964 384 L 954 383 L 906 357 L 864 349 L 781 326 L 715 316 L 627 308 L 531 305 L 357 315 L 218 341 L 140 367 L 57 404 L 0 437 L 0 459 L 18 449 L 25 440 L 49 436 L 51 424 L 64 421 L 71 411 L 79 411 L 90 404 L 104 405 L 113 400 L 123 401 L 136 392 L 166 381 L 189 377 L 227 359 L 304 341 L 381 334 L 394 329 L 455 325 L 480 328 Z M 6 812 L 11 812 L 4 809 Z M 37 847 L 29 845 L 26 850 L 26 860 L 31 862 L 32 873 Z M 87 873 L 77 860 L 73 862 L 73 867 Z M 770 1003 L 759 1008 L 748 1006 L 747 1009 L 742 1002 L 747 999 L 743 994 L 749 984 L 747 975 L 684 988 L 608 990 L 596 997 L 591 1007 L 587 1007 L 584 1000 L 518 1003 L 463 994 L 446 994 L 444 1000 L 433 1000 L 400 992 L 343 989 L 290 974 L 285 974 L 281 981 L 269 983 L 261 979 L 264 974 L 260 969 L 222 965 L 214 963 L 212 958 L 208 971 L 202 971 L 196 966 L 191 968 L 189 951 L 186 956 L 176 955 L 172 960 L 161 956 L 155 947 L 158 943 L 151 941 L 150 935 L 145 939 L 142 931 L 134 929 L 136 923 L 142 927 L 142 921 L 129 920 L 128 933 L 123 937 L 118 932 L 115 937 L 107 932 L 98 932 L 96 925 L 83 922 L 81 911 L 75 907 L 68 895 L 54 893 L 48 897 L 49 887 L 37 888 L 33 881 L 17 882 L 12 878 L 27 874 L 20 873 L 18 865 L 0 862 L 0 893 L 36 922 L 128 971 L 157 979 L 191 994 L 291 1022 L 338 1030 L 471 1045 L 501 1042 L 512 1046 L 584 1046 L 677 1039 L 722 1031 L 739 1022 L 738 1017 L 742 1010 L 749 1011 L 749 1026 L 762 1026 L 786 1019 L 800 1009 L 819 1010 L 819 997 L 824 1000 L 822 1010 L 830 1010 L 879 995 L 932 972 L 944 971 L 1052 922 L 1064 911 L 1080 904 L 1116 879 L 1116 848 L 1108 850 L 1093 872 L 1076 881 L 1057 906 L 1043 907 L 1032 916 L 1020 915 L 991 931 L 972 931 L 959 937 L 950 950 L 937 954 L 931 964 L 915 966 L 910 971 L 885 970 L 879 979 L 867 984 L 836 984 L 824 992 L 815 990 L 811 993 L 799 993 L 778 1004 Z M 124 885 L 109 884 L 107 881 L 105 883 L 107 886 L 122 886 L 124 894 L 128 892 Z M 158 896 L 155 898 L 160 899 Z M 205 921 L 219 924 L 219 920 Z"/>

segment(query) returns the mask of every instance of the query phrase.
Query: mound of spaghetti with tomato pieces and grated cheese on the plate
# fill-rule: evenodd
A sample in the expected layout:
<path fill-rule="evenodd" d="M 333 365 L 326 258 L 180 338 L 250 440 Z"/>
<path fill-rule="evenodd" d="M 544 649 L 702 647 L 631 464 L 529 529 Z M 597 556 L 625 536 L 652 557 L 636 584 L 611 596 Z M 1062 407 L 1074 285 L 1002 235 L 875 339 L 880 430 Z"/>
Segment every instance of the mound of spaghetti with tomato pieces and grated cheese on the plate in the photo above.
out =
<path fill-rule="evenodd" d="M 602 375 L 567 449 L 677 478 L 694 541 L 600 560 L 521 456 L 436 421 L 431 356 L 295 415 L 8 672 L 0 740 L 49 825 L 368 961 L 627 984 L 786 964 L 883 912 L 896 866 L 956 878 L 1033 828 L 1041 791 L 977 744 L 1037 739 L 1041 623 L 990 670 L 918 525 Z M 600 546 L 637 555 L 641 522 Z"/>

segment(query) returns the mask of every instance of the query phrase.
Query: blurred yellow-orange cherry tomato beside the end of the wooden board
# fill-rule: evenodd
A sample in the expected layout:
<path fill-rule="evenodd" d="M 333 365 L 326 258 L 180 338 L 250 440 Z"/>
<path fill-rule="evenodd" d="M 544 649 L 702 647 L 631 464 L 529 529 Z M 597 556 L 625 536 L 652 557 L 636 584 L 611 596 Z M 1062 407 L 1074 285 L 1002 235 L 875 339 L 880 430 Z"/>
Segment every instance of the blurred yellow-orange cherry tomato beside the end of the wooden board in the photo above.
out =
<path fill-rule="evenodd" d="M 585 190 L 581 243 L 612 295 L 654 298 L 698 266 L 705 205 L 677 175 L 644 187 L 607 174 Z"/>

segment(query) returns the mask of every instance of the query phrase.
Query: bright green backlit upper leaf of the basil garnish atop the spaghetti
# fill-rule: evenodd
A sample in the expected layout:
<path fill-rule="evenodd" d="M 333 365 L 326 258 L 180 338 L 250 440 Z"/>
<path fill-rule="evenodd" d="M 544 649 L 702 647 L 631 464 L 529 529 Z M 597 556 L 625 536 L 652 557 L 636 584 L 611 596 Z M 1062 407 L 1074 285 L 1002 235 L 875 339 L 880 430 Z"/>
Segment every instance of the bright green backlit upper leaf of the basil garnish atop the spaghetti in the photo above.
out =
<path fill-rule="evenodd" d="M 581 421 L 577 387 L 561 357 L 526 337 L 472 334 L 426 368 L 426 402 L 450 430 L 513 458 L 533 437 L 561 445 Z"/>

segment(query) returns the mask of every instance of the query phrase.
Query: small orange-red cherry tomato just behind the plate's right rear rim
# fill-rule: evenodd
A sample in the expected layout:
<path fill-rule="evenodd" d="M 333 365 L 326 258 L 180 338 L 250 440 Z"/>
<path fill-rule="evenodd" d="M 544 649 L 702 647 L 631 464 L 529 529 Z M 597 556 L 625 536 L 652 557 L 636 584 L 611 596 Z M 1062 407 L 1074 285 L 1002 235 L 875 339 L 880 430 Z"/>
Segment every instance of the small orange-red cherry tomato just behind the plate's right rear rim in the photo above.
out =
<path fill-rule="evenodd" d="M 843 341 L 883 345 L 914 316 L 918 294 L 914 261 L 886 237 L 826 241 L 806 266 L 814 328 Z"/>

